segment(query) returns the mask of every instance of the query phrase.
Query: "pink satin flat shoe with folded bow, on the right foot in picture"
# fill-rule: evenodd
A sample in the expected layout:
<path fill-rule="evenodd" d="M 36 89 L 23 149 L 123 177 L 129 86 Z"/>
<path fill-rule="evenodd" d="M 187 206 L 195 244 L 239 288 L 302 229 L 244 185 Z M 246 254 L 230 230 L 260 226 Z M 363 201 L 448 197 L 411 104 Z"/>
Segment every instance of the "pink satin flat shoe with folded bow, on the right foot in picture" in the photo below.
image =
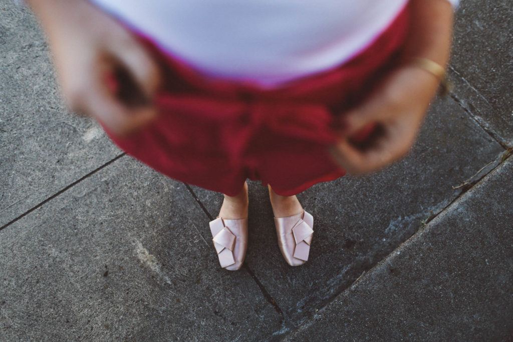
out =
<path fill-rule="evenodd" d="M 274 217 L 278 235 L 278 247 L 290 266 L 303 265 L 308 260 L 313 237 L 313 216 L 302 213 L 286 217 Z"/>

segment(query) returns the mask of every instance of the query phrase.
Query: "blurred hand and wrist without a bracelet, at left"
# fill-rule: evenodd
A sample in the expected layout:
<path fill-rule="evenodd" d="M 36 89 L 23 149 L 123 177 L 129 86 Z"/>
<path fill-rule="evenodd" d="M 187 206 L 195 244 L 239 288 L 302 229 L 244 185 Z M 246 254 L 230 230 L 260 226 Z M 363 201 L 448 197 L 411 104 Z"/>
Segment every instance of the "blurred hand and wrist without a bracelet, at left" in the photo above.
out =
<path fill-rule="evenodd" d="M 90 115 L 124 136 L 157 115 L 153 95 L 159 68 L 122 25 L 87 0 L 26 0 L 43 26 L 64 98 L 75 112 Z M 106 75 L 133 80 L 134 105 L 109 89 Z M 124 84 L 121 85 L 125 86 Z M 130 97 L 133 97 L 130 96 Z"/>

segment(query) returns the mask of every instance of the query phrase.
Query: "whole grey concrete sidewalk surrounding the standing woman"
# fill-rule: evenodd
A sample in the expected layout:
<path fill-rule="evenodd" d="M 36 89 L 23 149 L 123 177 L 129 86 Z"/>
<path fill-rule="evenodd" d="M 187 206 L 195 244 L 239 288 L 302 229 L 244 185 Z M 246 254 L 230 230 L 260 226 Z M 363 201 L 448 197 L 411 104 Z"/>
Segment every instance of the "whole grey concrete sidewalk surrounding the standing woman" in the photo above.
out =
<path fill-rule="evenodd" d="M 299 196 L 304 266 L 251 182 L 246 264 L 228 272 L 208 227 L 222 197 L 66 112 L 34 17 L 0 0 L 0 340 L 513 339 L 511 11 L 461 1 L 457 88 L 407 158 Z"/>

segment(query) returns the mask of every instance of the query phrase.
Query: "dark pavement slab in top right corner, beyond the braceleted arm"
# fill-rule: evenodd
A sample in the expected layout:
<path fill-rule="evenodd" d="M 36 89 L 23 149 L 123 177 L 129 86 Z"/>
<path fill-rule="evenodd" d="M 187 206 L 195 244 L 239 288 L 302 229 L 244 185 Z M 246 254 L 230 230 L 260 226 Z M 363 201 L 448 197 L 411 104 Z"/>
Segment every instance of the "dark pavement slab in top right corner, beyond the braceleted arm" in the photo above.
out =
<path fill-rule="evenodd" d="M 462 0 L 450 76 L 454 96 L 491 134 L 513 147 L 513 2 Z"/>

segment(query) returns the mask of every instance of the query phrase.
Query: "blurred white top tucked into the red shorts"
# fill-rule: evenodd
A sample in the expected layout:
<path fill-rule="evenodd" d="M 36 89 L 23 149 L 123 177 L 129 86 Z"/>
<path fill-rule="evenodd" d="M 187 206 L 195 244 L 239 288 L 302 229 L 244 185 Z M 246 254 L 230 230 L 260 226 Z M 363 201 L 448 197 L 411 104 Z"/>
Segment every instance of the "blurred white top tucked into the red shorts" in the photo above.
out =
<path fill-rule="evenodd" d="M 212 76 L 272 87 L 337 66 L 408 0 L 90 0 Z M 449 0 L 457 6 L 458 0 Z"/>

